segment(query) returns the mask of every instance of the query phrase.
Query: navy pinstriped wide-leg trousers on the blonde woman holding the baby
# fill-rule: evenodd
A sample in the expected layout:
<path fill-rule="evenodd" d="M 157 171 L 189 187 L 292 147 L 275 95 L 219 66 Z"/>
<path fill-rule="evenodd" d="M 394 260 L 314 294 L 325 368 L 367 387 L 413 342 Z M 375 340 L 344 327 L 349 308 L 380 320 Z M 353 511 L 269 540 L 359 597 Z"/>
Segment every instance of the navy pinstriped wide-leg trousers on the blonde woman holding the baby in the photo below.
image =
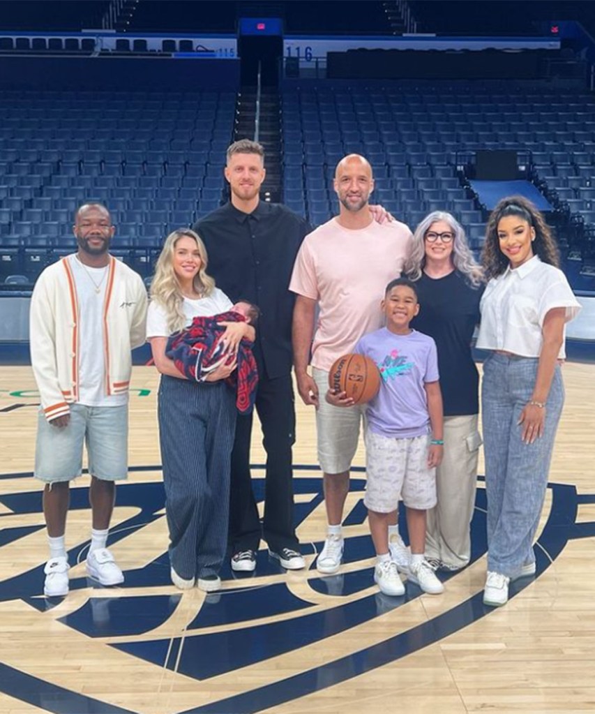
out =
<path fill-rule="evenodd" d="M 181 578 L 218 573 L 227 549 L 235 392 L 223 382 L 161 376 L 159 439 L 171 565 Z"/>

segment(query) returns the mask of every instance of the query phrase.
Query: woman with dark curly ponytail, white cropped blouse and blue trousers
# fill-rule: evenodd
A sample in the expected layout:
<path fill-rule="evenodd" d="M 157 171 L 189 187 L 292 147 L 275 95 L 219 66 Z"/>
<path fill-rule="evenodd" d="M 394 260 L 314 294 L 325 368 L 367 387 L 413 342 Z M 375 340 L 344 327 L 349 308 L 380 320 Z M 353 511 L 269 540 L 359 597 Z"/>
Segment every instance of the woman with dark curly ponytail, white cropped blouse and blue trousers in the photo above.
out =
<path fill-rule="evenodd" d="M 503 198 L 482 253 L 489 279 L 477 347 L 484 362 L 482 421 L 487 490 L 486 605 L 504 605 L 509 583 L 535 573 L 539 523 L 562 405 L 564 328 L 580 306 L 559 270 L 541 213 Z"/>

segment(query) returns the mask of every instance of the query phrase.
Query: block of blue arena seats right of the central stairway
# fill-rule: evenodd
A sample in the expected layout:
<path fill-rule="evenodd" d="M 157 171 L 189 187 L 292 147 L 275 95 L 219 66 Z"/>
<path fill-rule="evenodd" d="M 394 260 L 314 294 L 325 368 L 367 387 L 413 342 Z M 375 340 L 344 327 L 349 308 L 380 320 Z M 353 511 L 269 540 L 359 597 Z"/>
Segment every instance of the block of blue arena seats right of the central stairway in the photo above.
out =
<path fill-rule="evenodd" d="M 326 221 L 336 211 L 335 165 L 357 151 L 375 171 L 375 201 L 413 228 L 429 211 L 451 211 L 477 249 L 485 214 L 457 156 L 518 149 L 530 152 L 528 174 L 556 209 L 595 230 L 594 109 L 584 91 L 527 91 L 504 82 L 288 91 L 285 202 L 312 223 Z"/>

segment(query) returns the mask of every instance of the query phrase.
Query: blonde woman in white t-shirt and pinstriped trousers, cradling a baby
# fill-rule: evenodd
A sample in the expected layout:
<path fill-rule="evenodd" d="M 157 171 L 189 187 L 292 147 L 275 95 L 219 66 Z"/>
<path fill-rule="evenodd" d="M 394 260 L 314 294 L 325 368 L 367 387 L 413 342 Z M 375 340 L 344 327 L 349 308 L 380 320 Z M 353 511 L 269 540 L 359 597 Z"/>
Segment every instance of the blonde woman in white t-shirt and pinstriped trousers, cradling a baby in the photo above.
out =
<path fill-rule="evenodd" d="M 158 392 L 159 439 L 170 535 L 171 580 L 178 588 L 213 592 L 220 588 L 229 518 L 230 456 L 235 433 L 235 393 L 223 380 L 236 363 L 221 365 L 203 382 L 188 381 L 166 356 L 168 338 L 195 317 L 231 308 L 228 296 L 206 272 L 203 241 L 188 229 L 173 231 L 158 258 L 151 285 L 147 339 L 161 372 Z M 243 337 L 254 339 L 247 323 L 222 323 L 229 352 Z"/>

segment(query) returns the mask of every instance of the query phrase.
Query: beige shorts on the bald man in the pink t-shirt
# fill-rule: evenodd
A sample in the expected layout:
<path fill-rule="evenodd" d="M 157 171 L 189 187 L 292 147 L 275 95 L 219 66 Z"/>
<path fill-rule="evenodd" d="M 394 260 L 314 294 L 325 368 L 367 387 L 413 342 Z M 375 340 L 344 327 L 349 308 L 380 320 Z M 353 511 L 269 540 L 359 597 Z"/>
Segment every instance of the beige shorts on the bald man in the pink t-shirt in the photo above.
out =
<path fill-rule="evenodd" d="M 350 470 L 357 451 L 365 405 L 332 406 L 325 399 L 328 391 L 328 372 L 314 367 L 312 377 L 318 387 L 318 463 L 324 473 L 344 473 Z"/>

